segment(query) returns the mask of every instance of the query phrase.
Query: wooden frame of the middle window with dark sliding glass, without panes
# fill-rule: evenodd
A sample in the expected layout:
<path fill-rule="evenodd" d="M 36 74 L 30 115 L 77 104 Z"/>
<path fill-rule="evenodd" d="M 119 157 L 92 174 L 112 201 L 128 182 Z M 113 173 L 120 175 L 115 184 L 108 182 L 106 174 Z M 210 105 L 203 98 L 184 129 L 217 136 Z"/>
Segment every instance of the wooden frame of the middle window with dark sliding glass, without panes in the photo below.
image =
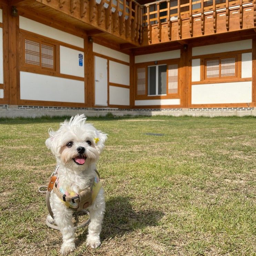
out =
<path fill-rule="evenodd" d="M 168 65 L 177 64 L 177 93 L 168 93 Z M 155 66 L 155 65 L 166 65 L 166 94 L 162 95 L 148 95 L 148 66 Z M 144 63 L 135 63 L 134 65 L 134 81 L 135 81 L 135 88 L 134 88 L 134 95 L 135 100 L 153 100 L 153 99 L 177 99 L 180 98 L 181 94 L 181 81 L 180 81 L 180 74 L 181 74 L 181 59 L 168 59 L 168 60 L 161 60 L 157 61 L 155 64 L 154 61 L 144 62 Z M 137 69 L 145 68 L 145 93 L 144 94 L 137 94 Z"/>

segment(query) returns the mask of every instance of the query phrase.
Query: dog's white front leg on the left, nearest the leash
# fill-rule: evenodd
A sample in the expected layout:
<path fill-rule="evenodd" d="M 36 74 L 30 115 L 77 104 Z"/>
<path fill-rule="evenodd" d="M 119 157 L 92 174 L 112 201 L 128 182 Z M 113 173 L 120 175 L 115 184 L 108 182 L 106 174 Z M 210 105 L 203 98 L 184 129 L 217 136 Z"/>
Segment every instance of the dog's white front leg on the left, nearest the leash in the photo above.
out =
<path fill-rule="evenodd" d="M 66 207 L 55 194 L 51 196 L 51 199 L 54 220 L 62 234 L 63 243 L 60 253 L 66 255 L 75 249 L 75 231 L 72 223 L 73 211 Z"/>

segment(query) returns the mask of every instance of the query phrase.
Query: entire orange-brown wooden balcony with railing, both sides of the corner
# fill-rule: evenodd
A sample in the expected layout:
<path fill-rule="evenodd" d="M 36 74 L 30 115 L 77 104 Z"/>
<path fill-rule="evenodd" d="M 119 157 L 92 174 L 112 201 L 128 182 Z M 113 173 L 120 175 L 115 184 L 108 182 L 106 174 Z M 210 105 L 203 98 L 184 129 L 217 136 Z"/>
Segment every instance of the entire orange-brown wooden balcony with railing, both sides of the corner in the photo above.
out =
<path fill-rule="evenodd" d="M 184 43 L 256 26 L 256 0 L 160 0 L 144 5 L 135 0 L 20 0 L 20 7 L 65 21 L 121 49 Z"/>

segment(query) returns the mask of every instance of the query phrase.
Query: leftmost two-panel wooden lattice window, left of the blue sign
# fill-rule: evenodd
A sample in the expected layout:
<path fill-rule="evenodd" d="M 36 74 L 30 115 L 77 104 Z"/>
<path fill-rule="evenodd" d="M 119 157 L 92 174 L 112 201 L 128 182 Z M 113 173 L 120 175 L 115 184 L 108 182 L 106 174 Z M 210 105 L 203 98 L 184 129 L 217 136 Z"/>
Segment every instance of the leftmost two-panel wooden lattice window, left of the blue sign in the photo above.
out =
<path fill-rule="evenodd" d="M 55 45 L 25 37 L 23 43 L 25 65 L 55 70 Z"/>

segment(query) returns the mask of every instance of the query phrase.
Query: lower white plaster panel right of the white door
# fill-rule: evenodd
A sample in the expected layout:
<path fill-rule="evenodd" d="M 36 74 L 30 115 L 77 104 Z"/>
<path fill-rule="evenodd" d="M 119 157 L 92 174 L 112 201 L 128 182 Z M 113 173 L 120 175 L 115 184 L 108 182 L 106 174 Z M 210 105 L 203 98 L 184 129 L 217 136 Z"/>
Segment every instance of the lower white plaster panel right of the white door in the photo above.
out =
<path fill-rule="evenodd" d="M 111 105 L 130 105 L 130 89 L 109 86 L 109 104 Z"/>

